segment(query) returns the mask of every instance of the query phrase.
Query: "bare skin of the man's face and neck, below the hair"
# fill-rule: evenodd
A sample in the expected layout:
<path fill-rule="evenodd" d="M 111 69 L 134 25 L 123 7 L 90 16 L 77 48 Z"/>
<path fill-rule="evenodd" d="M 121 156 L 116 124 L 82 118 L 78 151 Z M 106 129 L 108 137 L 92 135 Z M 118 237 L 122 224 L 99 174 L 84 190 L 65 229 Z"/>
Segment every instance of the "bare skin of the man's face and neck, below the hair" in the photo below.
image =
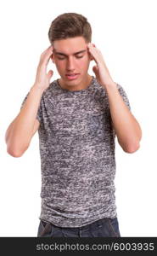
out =
<path fill-rule="evenodd" d="M 82 90 L 87 88 L 92 80 L 87 71 L 93 60 L 83 37 L 67 38 L 54 41 L 51 57 L 59 72 L 59 84 L 67 90 Z M 65 74 L 79 73 L 75 80 L 69 80 Z"/>

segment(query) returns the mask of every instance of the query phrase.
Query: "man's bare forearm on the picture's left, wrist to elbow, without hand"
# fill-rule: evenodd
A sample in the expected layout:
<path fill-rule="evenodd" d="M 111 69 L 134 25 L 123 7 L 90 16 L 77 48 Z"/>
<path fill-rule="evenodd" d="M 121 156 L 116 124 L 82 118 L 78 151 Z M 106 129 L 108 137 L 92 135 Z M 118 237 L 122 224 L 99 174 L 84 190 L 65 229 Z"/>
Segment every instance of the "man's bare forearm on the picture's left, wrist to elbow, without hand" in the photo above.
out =
<path fill-rule="evenodd" d="M 33 85 L 20 113 L 8 126 L 5 135 L 8 152 L 20 154 L 29 146 L 42 93 Z"/>

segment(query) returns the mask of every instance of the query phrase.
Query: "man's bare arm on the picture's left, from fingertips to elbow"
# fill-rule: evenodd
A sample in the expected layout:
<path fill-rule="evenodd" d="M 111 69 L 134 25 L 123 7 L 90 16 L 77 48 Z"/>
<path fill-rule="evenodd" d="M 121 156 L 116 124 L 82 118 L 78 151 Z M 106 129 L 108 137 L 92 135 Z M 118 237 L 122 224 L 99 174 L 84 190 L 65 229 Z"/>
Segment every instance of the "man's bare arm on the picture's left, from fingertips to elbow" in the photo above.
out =
<path fill-rule="evenodd" d="M 46 73 L 48 61 L 53 53 L 53 47 L 46 49 L 40 58 L 36 72 L 35 84 L 31 87 L 29 95 L 25 101 L 23 108 L 18 116 L 8 126 L 5 134 L 7 143 L 7 152 L 14 157 L 20 157 L 31 143 L 31 137 L 39 126 L 37 123 L 36 114 L 39 108 L 42 93 L 49 86 L 49 80 L 53 75 L 50 70 Z"/>

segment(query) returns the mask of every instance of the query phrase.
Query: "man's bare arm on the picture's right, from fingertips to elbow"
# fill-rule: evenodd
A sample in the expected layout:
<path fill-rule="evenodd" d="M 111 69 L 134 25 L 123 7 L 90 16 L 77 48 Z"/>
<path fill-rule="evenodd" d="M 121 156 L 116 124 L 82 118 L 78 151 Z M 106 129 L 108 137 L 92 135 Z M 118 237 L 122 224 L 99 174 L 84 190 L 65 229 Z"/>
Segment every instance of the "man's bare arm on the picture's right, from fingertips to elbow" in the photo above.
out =
<path fill-rule="evenodd" d="M 133 117 L 130 110 L 126 107 L 117 86 L 109 74 L 104 57 L 94 44 L 87 44 L 90 57 L 96 62 L 93 72 L 96 74 L 98 83 L 107 91 L 109 98 L 109 110 L 111 113 L 112 124 L 118 142 L 127 153 L 133 153 L 139 148 L 142 131 L 137 120 Z"/>

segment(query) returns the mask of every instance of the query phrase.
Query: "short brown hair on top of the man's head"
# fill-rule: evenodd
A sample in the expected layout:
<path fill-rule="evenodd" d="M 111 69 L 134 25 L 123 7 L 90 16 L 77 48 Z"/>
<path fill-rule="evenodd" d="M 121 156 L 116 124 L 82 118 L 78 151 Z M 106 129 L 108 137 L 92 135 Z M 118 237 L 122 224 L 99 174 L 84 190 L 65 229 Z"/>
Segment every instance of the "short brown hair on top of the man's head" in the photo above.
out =
<path fill-rule="evenodd" d="M 92 28 L 87 18 L 76 13 L 65 13 L 55 18 L 48 31 L 48 38 L 53 45 L 55 40 L 75 38 L 85 38 L 87 43 L 92 40 Z"/>

